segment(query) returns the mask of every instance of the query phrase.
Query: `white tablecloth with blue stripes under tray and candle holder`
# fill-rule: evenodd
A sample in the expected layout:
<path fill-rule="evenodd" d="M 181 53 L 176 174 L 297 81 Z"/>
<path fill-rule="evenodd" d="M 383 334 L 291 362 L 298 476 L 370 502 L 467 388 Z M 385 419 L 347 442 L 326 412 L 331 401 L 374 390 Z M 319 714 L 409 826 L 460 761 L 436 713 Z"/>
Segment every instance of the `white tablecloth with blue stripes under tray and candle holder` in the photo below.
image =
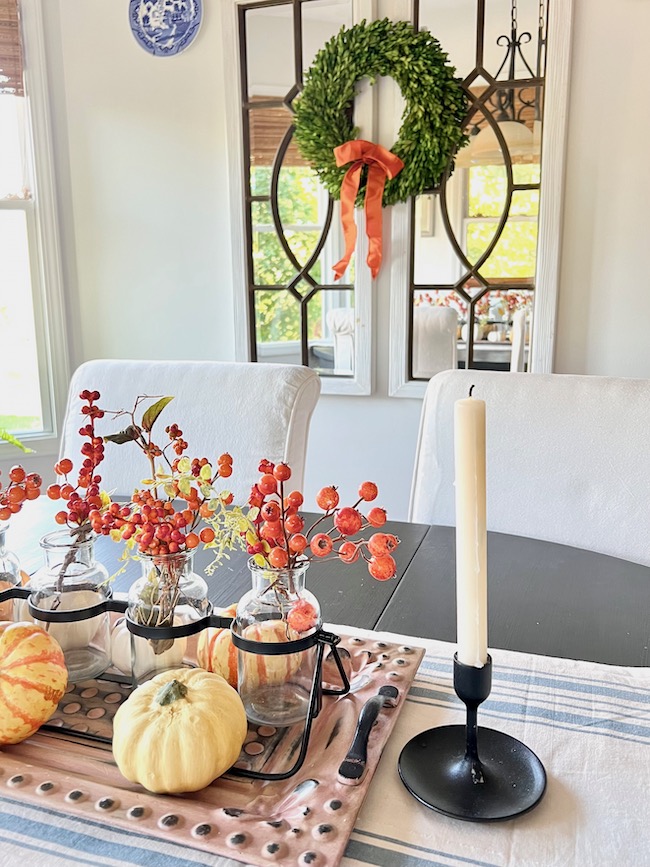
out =
<path fill-rule="evenodd" d="M 372 635 L 419 643 L 427 653 L 357 817 L 343 867 L 650 865 L 650 669 L 492 651 L 492 693 L 479 723 L 533 749 L 546 767 L 548 788 L 530 813 L 481 825 L 427 810 L 408 794 L 396 770 L 402 747 L 415 734 L 463 721 L 451 683 L 454 646 Z M 26 806 L 5 797 L 0 786 L 1 867 L 77 864 L 240 862 Z"/>

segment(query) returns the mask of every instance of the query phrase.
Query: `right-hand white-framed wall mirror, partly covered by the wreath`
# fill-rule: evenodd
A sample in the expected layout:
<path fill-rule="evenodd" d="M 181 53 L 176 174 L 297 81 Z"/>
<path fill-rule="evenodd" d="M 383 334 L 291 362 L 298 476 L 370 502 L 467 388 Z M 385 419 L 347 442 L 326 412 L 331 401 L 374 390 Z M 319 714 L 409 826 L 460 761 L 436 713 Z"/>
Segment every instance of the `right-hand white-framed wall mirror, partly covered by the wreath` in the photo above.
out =
<path fill-rule="evenodd" d="M 390 391 L 451 367 L 550 371 L 571 8 L 413 0 L 463 82 L 469 144 L 395 209 Z"/>

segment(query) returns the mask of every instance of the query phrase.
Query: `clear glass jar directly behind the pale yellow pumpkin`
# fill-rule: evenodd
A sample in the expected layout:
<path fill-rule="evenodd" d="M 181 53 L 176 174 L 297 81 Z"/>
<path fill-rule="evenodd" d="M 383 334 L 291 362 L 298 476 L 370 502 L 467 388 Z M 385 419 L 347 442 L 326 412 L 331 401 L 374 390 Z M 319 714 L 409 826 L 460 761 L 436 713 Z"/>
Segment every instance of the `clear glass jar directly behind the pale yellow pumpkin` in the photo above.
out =
<path fill-rule="evenodd" d="M 129 618 L 142 626 L 167 627 L 207 617 L 212 611 L 208 585 L 193 571 L 193 560 L 193 551 L 140 554 L 142 576 L 129 590 Z M 130 649 L 130 661 L 120 658 L 118 667 L 142 683 L 161 671 L 182 667 L 187 638 L 143 638 L 130 633 Z"/>

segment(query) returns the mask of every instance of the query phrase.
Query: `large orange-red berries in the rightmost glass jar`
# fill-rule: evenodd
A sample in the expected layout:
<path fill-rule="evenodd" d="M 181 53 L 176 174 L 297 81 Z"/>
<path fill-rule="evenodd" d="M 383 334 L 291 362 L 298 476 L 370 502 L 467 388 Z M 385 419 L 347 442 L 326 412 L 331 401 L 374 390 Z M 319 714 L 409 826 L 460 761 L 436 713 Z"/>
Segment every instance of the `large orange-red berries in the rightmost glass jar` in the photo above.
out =
<path fill-rule="evenodd" d="M 336 487 L 322 488 L 316 503 L 325 514 L 305 530 L 304 518 L 298 511 L 304 502 L 303 495 L 300 491 L 291 491 L 286 496 L 284 493 L 284 483 L 291 478 L 290 467 L 263 460 L 259 470 L 262 475 L 248 499 L 254 509 L 253 533 L 247 534 L 249 554 L 261 555 L 274 569 L 293 567 L 314 557 L 338 556 L 344 563 L 353 563 L 361 556 L 373 578 L 386 581 L 393 577 L 396 565 L 392 552 L 399 544 L 396 536 L 374 533 L 368 540 L 349 538 L 386 523 L 386 511 L 382 508 L 375 506 L 366 516 L 359 511 L 362 502 L 376 499 L 374 482 L 363 482 L 356 503 L 340 508 Z M 327 518 L 331 519 L 332 527 L 327 532 L 314 532 Z"/>

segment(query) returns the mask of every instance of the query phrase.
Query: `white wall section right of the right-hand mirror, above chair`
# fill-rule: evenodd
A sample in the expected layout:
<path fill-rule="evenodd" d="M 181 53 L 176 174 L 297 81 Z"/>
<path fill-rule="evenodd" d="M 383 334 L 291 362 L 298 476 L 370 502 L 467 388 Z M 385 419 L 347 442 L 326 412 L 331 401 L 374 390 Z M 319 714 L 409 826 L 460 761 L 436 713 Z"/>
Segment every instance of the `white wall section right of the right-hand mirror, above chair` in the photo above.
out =
<path fill-rule="evenodd" d="M 650 3 L 576 0 L 560 373 L 650 377 Z"/>

